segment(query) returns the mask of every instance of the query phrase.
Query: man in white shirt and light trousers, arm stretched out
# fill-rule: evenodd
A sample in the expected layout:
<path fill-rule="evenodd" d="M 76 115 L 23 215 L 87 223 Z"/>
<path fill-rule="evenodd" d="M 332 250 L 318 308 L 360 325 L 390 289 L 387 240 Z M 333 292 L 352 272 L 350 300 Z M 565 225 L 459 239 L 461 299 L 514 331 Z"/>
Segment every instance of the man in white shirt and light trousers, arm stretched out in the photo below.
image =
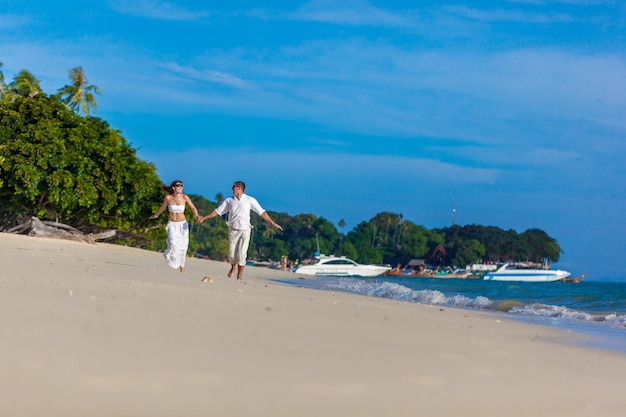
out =
<path fill-rule="evenodd" d="M 228 197 L 215 210 L 206 216 L 198 216 L 198 222 L 202 223 L 206 219 L 221 216 L 228 213 L 228 262 L 230 271 L 228 276 L 232 277 L 237 268 L 237 279 L 243 277 L 243 268 L 246 266 L 248 257 L 248 245 L 250 244 L 250 211 L 254 211 L 265 221 L 278 230 L 283 228 L 276 223 L 269 214 L 261 207 L 256 198 L 245 194 L 246 184 L 243 181 L 235 181 L 233 184 L 233 196 Z"/>

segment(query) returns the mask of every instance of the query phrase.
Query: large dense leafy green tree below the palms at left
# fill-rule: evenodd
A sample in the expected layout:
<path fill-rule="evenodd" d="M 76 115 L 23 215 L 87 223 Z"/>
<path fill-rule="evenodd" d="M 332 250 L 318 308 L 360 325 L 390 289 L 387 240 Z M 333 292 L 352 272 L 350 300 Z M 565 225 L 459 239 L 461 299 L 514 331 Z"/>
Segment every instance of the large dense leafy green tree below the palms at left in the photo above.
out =
<path fill-rule="evenodd" d="M 154 165 L 106 122 L 78 116 L 54 96 L 0 103 L 0 161 L 4 223 L 36 215 L 132 237 L 163 200 Z"/>

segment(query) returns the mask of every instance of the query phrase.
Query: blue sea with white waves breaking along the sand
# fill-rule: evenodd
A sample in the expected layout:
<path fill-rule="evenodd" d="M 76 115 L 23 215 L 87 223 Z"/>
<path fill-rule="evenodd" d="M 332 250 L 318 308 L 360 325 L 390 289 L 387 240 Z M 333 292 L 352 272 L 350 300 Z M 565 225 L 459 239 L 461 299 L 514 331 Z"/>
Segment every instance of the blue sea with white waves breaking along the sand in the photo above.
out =
<path fill-rule="evenodd" d="M 626 353 L 626 282 L 500 282 L 480 279 L 323 277 L 291 281 L 410 303 L 504 313 L 513 320 L 585 334 L 582 344 Z"/>

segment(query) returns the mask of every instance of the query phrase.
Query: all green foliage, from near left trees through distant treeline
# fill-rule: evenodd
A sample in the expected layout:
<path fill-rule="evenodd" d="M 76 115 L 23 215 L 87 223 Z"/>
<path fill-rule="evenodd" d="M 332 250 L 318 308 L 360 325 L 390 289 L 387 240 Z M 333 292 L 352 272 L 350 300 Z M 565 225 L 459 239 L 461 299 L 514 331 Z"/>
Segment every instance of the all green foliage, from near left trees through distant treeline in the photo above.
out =
<path fill-rule="evenodd" d="M 1 66 L 1 63 L 0 63 Z M 148 249 L 165 247 L 165 217 L 148 222 L 163 201 L 161 181 L 152 164 L 137 158 L 120 132 L 96 117 L 92 92 L 82 69 L 69 72 L 71 85 L 52 96 L 27 71 L 5 84 L 0 71 L 0 230 L 20 216 L 55 219 L 83 231 L 118 230 L 115 241 Z M 79 114 L 82 112 L 85 116 Z M 202 214 L 223 200 L 191 196 Z M 404 264 L 430 259 L 443 265 L 544 258 L 558 261 L 561 249 L 545 232 L 521 234 L 489 226 L 452 226 L 428 230 L 395 213 L 379 213 L 347 234 L 323 217 L 270 213 L 284 231 L 253 215 L 250 257 L 258 260 L 310 258 L 316 252 L 345 255 L 362 263 Z M 224 259 L 228 227 L 216 217 L 191 225 L 189 253 Z M 345 223 L 339 222 L 343 229 Z"/>

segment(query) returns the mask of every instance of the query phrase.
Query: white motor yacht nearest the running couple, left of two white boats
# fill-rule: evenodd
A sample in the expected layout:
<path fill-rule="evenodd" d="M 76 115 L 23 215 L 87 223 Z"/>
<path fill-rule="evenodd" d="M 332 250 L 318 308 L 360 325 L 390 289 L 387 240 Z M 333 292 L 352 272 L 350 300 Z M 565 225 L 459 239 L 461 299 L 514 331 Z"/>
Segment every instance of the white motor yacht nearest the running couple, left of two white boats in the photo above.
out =
<path fill-rule="evenodd" d="M 391 269 L 383 265 L 362 265 L 345 256 L 320 255 L 317 262 L 308 265 L 300 265 L 296 274 L 332 276 L 332 277 L 376 277 Z"/>

